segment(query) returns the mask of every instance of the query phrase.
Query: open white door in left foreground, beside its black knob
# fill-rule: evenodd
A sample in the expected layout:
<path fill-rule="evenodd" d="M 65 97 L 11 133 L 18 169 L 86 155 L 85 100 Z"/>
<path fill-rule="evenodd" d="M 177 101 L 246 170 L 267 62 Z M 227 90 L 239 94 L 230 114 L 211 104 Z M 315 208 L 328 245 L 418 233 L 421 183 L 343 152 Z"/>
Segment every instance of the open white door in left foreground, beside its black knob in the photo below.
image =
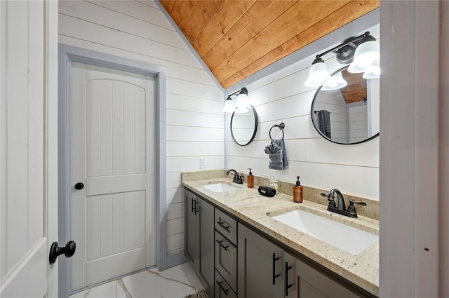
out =
<path fill-rule="evenodd" d="M 1 1 L 0 32 L 0 297 L 58 297 L 58 2 Z"/>

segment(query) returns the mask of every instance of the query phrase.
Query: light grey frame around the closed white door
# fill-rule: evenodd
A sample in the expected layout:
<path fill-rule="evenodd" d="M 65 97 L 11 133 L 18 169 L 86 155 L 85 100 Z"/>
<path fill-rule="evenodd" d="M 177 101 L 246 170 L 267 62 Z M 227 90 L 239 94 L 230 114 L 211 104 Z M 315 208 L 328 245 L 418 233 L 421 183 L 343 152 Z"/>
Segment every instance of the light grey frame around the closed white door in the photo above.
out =
<path fill-rule="evenodd" d="M 123 57 L 98 53 L 93 50 L 59 44 L 59 81 L 58 81 L 58 172 L 59 172 L 59 241 L 70 239 L 70 197 L 71 197 L 71 128 L 70 128 L 70 68 L 72 61 L 101 67 L 119 69 L 156 77 L 157 88 L 157 252 L 156 266 L 159 271 L 166 269 L 167 229 L 166 229 L 166 68 L 145 62 L 129 60 Z M 62 261 L 62 262 L 61 262 Z M 69 259 L 59 262 L 59 297 L 69 297 L 71 290 L 71 264 Z"/>

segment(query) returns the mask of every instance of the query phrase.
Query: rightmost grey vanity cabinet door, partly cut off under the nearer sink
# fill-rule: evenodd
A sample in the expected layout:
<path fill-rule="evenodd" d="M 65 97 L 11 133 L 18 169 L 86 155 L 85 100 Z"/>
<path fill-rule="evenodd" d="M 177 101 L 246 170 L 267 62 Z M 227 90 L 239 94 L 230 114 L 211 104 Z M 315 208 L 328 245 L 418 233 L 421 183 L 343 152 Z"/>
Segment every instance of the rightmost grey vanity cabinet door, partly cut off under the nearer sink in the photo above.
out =
<path fill-rule="evenodd" d="M 288 271 L 288 280 L 295 285 L 288 289 L 288 297 L 297 298 L 355 298 L 359 296 L 344 285 L 328 277 L 326 274 L 317 271 L 300 259 L 285 253 L 288 264 L 293 264 L 292 269 Z M 293 261 L 294 260 L 294 261 Z M 294 263 L 292 263 L 294 262 Z M 293 278 L 293 280 L 292 280 Z"/>

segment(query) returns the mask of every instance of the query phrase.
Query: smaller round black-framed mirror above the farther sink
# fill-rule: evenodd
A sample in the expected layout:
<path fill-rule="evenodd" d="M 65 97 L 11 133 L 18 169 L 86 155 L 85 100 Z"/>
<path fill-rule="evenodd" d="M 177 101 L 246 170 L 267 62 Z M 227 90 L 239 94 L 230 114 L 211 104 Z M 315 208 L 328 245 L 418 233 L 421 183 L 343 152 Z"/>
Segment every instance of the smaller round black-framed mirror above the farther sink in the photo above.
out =
<path fill-rule="evenodd" d="M 246 113 L 232 113 L 232 140 L 240 146 L 246 146 L 253 141 L 257 131 L 257 113 L 253 106 Z"/>

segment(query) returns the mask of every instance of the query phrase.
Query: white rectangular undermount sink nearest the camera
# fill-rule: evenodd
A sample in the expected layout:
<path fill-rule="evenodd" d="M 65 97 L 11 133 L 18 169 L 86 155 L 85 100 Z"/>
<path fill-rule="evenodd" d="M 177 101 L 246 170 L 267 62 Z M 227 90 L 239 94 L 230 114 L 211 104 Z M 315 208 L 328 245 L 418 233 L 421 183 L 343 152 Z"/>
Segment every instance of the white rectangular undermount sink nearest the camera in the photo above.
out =
<path fill-rule="evenodd" d="M 272 218 L 354 255 L 379 241 L 377 235 L 302 210 L 293 210 Z"/>

